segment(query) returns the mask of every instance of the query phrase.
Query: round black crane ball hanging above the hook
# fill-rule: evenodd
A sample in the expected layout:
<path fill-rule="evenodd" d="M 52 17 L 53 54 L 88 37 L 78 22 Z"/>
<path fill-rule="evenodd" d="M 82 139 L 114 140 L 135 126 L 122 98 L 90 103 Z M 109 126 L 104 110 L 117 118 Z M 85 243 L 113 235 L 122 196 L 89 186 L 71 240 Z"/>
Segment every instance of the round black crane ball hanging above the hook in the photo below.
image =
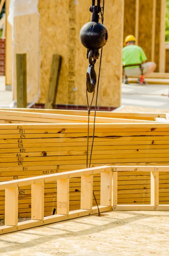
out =
<path fill-rule="evenodd" d="M 107 43 L 107 39 L 107 29 L 99 22 L 90 21 L 80 30 L 80 41 L 87 49 L 100 49 Z"/>

